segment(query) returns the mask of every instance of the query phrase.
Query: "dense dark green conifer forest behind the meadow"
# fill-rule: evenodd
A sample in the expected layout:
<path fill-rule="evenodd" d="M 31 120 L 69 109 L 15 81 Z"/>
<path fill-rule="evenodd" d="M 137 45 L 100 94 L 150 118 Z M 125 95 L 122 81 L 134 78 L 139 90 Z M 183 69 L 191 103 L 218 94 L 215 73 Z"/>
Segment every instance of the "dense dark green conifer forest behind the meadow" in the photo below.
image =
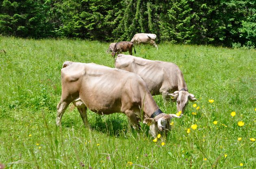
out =
<path fill-rule="evenodd" d="M 0 35 L 256 47 L 255 0 L 0 0 Z"/>

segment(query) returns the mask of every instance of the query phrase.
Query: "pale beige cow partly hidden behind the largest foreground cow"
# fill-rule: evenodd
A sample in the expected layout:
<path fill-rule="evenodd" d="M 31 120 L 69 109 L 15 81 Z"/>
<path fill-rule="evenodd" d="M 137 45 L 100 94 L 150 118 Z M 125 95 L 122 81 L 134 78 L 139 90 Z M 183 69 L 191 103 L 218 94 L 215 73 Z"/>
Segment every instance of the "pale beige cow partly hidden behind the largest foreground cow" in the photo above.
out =
<path fill-rule="evenodd" d="M 162 94 L 164 103 L 170 95 L 171 99 L 176 100 L 177 112 L 181 111 L 181 114 L 189 100 L 197 100 L 193 94 L 188 92 L 183 74 L 174 63 L 119 54 L 115 59 L 115 68 L 134 72 L 141 76 L 152 95 Z"/>

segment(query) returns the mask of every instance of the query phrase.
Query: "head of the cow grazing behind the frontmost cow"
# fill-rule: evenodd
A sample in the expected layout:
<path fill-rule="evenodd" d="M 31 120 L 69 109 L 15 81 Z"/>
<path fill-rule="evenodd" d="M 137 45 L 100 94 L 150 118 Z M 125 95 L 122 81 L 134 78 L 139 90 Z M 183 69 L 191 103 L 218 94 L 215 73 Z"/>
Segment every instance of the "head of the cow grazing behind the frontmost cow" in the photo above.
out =
<path fill-rule="evenodd" d="M 175 91 L 174 93 L 169 94 L 171 99 L 176 100 L 177 103 L 177 112 L 181 111 L 181 114 L 184 113 L 185 107 L 189 101 L 196 101 L 197 99 L 191 93 L 186 90 Z"/>

